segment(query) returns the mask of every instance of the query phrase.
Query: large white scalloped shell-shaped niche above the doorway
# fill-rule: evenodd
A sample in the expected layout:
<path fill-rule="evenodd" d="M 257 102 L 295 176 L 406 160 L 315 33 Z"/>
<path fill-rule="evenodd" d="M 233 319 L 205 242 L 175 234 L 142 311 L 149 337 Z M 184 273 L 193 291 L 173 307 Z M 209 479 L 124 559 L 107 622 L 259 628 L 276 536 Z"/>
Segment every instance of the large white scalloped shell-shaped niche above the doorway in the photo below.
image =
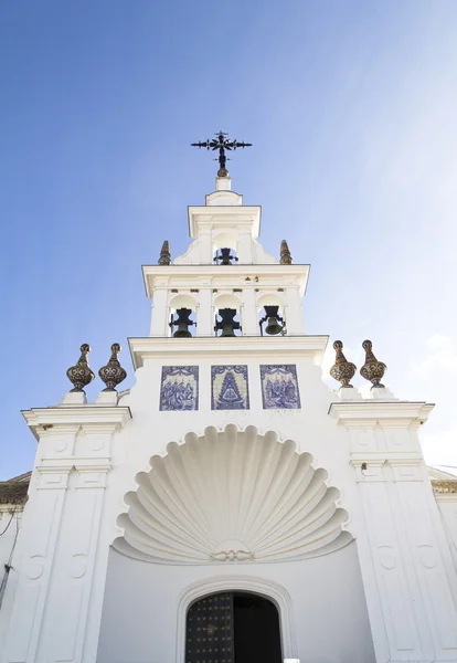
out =
<path fill-rule="evenodd" d="M 343 528 L 348 514 L 327 472 L 311 463 L 291 440 L 255 427 L 190 433 L 137 475 L 114 547 L 164 564 L 285 561 L 337 550 L 353 538 Z"/>

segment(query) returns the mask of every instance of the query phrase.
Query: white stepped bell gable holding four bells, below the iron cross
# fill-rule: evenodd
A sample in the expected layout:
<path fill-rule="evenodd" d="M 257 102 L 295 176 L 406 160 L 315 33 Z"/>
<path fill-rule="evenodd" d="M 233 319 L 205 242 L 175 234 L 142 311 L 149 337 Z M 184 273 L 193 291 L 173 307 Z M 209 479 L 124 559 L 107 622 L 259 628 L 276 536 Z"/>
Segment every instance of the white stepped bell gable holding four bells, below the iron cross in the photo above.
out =
<path fill-rule="evenodd" d="M 204 206 L 188 208 L 188 251 L 172 261 L 164 242 L 159 264 L 142 269 L 152 337 L 305 334 L 309 266 L 293 264 L 285 241 L 279 260 L 263 249 L 261 212 L 232 191 L 228 173 L 217 176 Z"/>

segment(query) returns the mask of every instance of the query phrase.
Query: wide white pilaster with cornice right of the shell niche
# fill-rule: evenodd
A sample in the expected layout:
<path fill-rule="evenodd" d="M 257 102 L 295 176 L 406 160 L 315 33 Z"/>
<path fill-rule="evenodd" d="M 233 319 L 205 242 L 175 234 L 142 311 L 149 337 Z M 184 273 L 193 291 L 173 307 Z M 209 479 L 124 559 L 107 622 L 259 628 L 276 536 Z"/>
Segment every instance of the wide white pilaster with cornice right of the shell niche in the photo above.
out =
<path fill-rule="evenodd" d="M 431 409 L 382 400 L 330 408 L 350 435 L 359 557 L 380 663 L 457 661 L 457 578 L 417 439 Z"/>

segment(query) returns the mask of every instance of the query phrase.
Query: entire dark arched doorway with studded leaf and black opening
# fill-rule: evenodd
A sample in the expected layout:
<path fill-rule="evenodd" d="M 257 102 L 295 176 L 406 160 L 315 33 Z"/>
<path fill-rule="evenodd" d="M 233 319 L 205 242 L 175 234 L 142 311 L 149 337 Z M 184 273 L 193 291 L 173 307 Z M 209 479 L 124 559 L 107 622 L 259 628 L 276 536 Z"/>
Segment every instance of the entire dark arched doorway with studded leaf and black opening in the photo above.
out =
<path fill-rule="evenodd" d="M 192 603 L 185 663 L 281 663 L 276 606 L 255 593 L 224 591 Z"/>

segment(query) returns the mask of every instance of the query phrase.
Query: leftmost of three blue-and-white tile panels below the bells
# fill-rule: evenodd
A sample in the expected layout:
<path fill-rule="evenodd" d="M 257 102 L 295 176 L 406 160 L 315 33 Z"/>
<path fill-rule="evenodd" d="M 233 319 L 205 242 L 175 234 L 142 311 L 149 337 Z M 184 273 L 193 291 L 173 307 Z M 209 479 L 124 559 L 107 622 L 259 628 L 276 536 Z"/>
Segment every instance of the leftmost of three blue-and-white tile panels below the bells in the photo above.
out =
<path fill-rule="evenodd" d="M 199 367 L 163 366 L 160 410 L 199 409 Z"/>

